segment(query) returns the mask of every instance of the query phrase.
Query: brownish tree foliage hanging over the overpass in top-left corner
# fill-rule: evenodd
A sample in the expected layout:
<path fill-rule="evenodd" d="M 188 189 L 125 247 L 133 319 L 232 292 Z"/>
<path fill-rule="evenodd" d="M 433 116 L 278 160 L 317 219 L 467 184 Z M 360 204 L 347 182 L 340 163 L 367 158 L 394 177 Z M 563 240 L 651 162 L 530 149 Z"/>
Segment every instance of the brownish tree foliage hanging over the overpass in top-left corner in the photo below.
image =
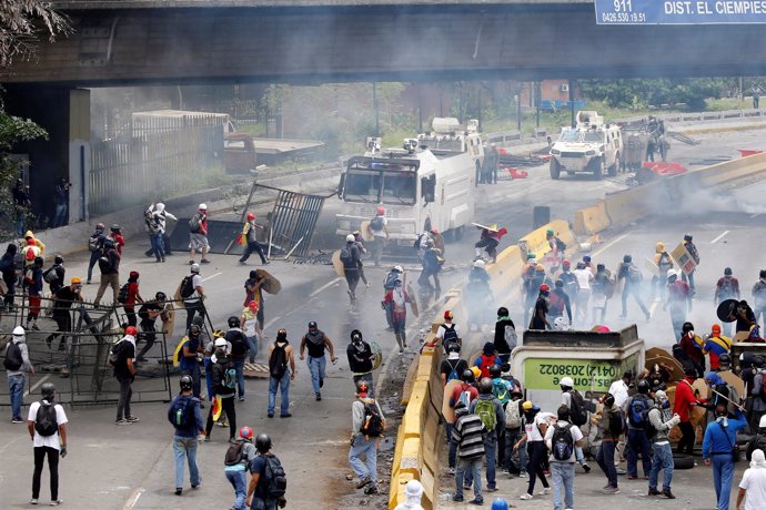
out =
<path fill-rule="evenodd" d="M 69 19 L 44 0 L 0 0 L 0 67 L 34 54 L 41 34 L 49 41 L 71 33 Z"/>

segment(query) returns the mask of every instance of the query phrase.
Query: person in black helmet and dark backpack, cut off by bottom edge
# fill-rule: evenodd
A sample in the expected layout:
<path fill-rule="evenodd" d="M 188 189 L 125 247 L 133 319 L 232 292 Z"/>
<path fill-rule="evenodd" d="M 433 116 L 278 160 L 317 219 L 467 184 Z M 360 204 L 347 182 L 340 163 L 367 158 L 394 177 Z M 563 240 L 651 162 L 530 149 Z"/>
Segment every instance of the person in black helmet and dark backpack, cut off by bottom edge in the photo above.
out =
<path fill-rule="evenodd" d="M 255 438 L 258 455 L 250 462 L 250 484 L 245 507 L 251 510 L 276 510 L 284 508 L 288 477 L 280 459 L 271 452 L 271 438 L 259 434 Z"/>

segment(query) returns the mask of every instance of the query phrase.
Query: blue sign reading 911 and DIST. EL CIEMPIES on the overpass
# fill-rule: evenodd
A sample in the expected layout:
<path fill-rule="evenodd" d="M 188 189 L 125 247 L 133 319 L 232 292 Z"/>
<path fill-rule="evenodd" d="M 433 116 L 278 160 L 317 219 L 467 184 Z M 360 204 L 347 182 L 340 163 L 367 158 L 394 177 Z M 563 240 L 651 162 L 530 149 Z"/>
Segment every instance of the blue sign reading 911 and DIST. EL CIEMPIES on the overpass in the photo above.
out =
<path fill-rule="evenodd" d="M 595 0 L 597 24 L 766 23 L 766 0 Z"/>

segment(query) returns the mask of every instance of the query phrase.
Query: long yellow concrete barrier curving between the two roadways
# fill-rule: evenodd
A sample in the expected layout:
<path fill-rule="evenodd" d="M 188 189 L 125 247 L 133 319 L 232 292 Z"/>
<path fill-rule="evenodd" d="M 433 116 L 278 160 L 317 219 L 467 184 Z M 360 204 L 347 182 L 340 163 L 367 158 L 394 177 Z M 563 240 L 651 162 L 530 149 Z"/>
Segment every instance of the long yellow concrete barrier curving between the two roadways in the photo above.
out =
<path fill-rule="evenodd" d="M 535 252 L 538 256 L 547 252 L 547 230 L 556 232 L 562 241 L 574 247 L 575 233 L 596 234 L 609 226 L 628 225 L 652 214 L 654 211 L 646 200 L 648 194 L 661 194 L 665 200 L 672 200 L 681 196 L 683 190 L 694 186 L 722 186 L 744 178 L 764 177 L 766 154 L 755 154 L 607 195 L 575 213 L 574 232 L 566 221 L 554 220 L 522 237 L 517 246 L 501 252 L 497 262 L 487 267 L 492 292 L 495 296 L 503 296 L 518 285 L 527 251 Z M 456 323 L 466 324 L 462 290 L 453 289 L 451 295 L 434 316 L 426 340 L 429 343 L 433 341 L 445 310 L 452 312 Z M 423 484 L 423 508 L 433 509 L 439 504 L 440 435 L 444 434 L 440 426 L 444 395 L 441 378 L 437 377 L 441 361 L 441 346 L 424 347 L 416 358 L 416 369 L 409 373 L 404 384 L 402 402 L 407 407 L 396 435 L 389 492 L 391 510 L 405 501 L 404 488 L 412 479 L 417 479 Z"/>

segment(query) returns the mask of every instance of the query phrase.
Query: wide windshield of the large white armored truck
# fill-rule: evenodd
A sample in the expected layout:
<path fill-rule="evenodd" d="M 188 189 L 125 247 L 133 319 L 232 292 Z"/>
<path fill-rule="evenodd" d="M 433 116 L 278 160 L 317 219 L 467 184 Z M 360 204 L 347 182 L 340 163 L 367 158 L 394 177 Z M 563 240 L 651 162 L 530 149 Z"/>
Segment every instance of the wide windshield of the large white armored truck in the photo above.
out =
<path fill-rule="evenodd" d="M 417 163 L 354 157 L 349 162 L 343 200 L 413 205 L 417 197 Z"/>

